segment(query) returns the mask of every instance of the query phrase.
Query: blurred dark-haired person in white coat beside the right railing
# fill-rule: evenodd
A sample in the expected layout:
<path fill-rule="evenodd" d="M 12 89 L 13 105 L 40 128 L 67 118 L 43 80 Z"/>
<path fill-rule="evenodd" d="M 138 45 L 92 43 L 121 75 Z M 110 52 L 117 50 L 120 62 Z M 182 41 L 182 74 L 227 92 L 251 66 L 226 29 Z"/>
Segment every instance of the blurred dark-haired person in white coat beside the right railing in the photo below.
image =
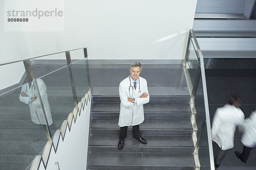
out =
<path fill-rule="evenodd" d="M 234 147 L 236 127 L 240 127 L 244 121 L 244 113 L 239 108 L 241 99 L 232 95 L 227 105 L 218 108 L 212 121 L 212 147 L 215 169 L 218 169 L 227 150 Z"/>

